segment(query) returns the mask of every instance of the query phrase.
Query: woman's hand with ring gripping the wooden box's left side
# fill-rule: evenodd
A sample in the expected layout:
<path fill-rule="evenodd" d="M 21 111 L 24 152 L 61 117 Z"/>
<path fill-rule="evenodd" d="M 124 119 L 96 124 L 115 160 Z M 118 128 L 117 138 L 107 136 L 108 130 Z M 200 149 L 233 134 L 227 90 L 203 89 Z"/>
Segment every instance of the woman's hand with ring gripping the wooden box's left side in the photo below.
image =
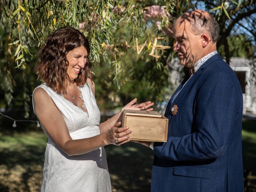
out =
<path fill-rule="evenodd" d="M 130 137 L 129 134 L 132 133 L 131 130 L 128 130 L 128 127 L 120 127 L 121 122 L 117 122 L 114 127 L 110 128 L 110 130 L 107 133 L 107 140 L 108 144 L 114 144 L 114 145 L 122 145 L 124 143 L 129 142 L 128 138 Z"/>

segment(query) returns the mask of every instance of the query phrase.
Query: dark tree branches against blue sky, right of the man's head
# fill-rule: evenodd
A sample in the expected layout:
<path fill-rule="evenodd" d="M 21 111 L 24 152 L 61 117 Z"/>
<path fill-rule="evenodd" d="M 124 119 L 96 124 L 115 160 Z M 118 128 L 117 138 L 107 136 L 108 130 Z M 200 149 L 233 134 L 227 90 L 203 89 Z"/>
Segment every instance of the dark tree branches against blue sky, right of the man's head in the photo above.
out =
<path fill-rule="evenodd" d="M 229 64 L 230 57 L 255 56 L 256 1 L 195 1 L 196 7 L 210 10 L 220 25 L 220 40 L 217 47 Z M 234 44 L 236 42 L 237 44 Z M 248 44 L 249 43 L 249 44 Z M 235 45 L 235 46 L 234 46 Z M 242 50 L 244 49 L 244 51 Z"/>

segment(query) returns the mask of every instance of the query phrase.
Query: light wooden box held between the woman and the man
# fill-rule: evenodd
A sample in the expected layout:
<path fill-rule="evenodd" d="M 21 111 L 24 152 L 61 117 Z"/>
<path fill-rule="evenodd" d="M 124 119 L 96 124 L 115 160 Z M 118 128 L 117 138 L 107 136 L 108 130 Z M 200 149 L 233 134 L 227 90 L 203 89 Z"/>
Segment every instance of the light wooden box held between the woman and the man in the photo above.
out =
<path fill-rule="evenodd" d="M 156 111 L 124 110 L 122 127 L 132 131 L 130 140 L 166 142 L 168 119 Z"/>

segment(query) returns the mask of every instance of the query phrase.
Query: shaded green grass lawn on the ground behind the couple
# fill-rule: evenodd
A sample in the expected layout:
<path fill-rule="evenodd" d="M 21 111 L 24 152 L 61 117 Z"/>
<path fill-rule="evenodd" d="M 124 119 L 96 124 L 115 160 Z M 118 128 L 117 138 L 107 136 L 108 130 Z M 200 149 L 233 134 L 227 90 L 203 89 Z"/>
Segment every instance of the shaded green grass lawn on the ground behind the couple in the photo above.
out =
<path fill-rule="evenodd" d="M 256 121 L 244 121 L 242 134 L 247 190 L 254 192 Z M 0 132 L 0 192 L 40 191 L 46 142 L 42 131 Z M 150 192 L 152 150 L 132 142 L 105 149 L 113 192 Z"/>

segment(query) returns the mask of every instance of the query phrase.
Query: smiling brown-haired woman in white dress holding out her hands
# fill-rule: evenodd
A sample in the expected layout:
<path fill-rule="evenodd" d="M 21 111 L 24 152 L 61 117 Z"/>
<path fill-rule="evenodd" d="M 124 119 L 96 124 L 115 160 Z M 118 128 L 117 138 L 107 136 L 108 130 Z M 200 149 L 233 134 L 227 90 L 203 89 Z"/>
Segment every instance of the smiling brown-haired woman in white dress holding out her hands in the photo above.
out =
<path fill-rule="evenodd" d="M 104 146 L 129 141 L 128 127 L 118 128 L 122 110 L 152 110 L 152 102 L 134 99 L 100 124 L 89 52 L 70 27 L 50 34 L 40 50 L 35 70 L 44 84 L 33 92 L 33 108 L 48 136 L 41 192 L 110 192 Z"/>

